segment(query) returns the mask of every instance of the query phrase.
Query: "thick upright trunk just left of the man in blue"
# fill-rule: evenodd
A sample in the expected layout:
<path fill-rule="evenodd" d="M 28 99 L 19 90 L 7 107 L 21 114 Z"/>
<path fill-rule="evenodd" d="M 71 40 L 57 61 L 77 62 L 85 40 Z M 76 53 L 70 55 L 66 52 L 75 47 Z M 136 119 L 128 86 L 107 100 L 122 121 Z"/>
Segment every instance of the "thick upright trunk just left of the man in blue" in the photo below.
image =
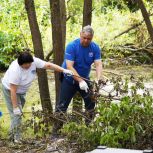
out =
<path fill-rule="evenodd" d="M 50 0 L 54 63 L 61 65 L 66 36 L 65 0 Z M 60 74 L 55 72 L 56 104 L 59 100 Z"/>

